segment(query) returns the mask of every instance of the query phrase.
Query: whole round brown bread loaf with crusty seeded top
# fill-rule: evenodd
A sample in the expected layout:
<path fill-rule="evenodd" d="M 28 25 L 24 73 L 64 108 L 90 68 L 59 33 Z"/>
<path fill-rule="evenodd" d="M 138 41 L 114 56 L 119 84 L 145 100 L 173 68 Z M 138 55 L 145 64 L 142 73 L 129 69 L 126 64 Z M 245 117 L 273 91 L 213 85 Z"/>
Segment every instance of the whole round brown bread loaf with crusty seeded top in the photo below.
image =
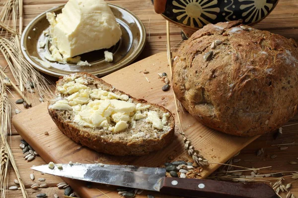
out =
<path fill-rule="evenodd" d="M 270 132 L 297 112 L 298 45 L 241 21 L 208 24 L 178 49 L 172 83 L 203 124 L 237 136 Z"/>

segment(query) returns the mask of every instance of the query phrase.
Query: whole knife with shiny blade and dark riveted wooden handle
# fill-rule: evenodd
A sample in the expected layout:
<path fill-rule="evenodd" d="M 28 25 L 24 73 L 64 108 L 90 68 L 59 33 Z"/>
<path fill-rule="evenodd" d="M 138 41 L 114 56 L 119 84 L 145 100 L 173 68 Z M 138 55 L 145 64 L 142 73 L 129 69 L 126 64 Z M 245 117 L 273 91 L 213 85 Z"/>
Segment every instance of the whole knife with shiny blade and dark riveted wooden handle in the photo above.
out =
<path fill-rule="evenodd" d="M 48 165 L 33 170 L 100 184 L 157 191 L 191 198 L 278 198 L 266 184 L 235 184 L 204 179 L 165 177 L 164 168 L 149 168 L 110 164 L 62 164 L 50 169 Z"/>

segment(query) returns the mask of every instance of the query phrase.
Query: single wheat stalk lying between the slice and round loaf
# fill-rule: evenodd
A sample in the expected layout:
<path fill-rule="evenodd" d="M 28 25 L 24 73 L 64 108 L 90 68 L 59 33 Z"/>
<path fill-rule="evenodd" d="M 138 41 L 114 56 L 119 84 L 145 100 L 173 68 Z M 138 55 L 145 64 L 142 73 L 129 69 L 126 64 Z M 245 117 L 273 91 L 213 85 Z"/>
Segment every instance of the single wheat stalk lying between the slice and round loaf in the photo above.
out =
<path fill-rule="evenodd" d="M 172 75 L 172 57 L 171 57 L 171 47 L 170 47 L 170 28 L 169 28 L 169 22 L 166 21 L 166 38 L 167 38 L 167 57 L 168 57 L 168 63 L 170 66 L 171 70 L 171 75 Z M 179 107 L 177 104 L 177 99 L 176 95 L 174 95 L 174 101 L 175 101 L 175 106 L 176 106 L 176 114 L 178 117 L 178 122 L 179 122 L 179 127 L 180 127 L 180 134 L 183 137 L 183 144 L 184 148 L 187 150 L 188 155 L 190 155 L 193 160 L 199 165 L 199 166 L 204 166 L 208 165 L 208 160 L 205 159 L 203 155 L 200 154 L 200 151 L 195 149 L 194 146 L 191 143 L 191 140 L 185 136 L 185 133 L 183 132 L 183 128 L 181 125 L 181 120 L 179 116 Z"/>

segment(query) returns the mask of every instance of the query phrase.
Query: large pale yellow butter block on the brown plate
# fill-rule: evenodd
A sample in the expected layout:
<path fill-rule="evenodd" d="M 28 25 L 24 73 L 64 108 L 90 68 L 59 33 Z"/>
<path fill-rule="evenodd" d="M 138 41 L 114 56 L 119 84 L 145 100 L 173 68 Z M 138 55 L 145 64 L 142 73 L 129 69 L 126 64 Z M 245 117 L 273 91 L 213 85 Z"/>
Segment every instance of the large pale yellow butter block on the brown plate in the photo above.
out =
<path fill-rule="evenodd" d="M 52 44 L 64 59 L 114 46 L 120 25 L 104 0 L 69 0 L 62 13 L 47 13 Z"/>

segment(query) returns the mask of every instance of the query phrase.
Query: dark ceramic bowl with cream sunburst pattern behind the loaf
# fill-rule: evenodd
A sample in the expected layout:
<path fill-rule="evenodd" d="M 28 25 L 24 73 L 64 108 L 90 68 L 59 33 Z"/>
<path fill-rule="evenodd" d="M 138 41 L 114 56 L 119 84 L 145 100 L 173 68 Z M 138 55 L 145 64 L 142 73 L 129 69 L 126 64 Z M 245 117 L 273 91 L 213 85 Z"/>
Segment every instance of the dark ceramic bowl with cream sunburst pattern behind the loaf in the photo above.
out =
<path fill-rule="evenodd" d="M 263 20 L 279 0 L 151 0 L 155 12 L 180 26 L 190 37 L 208 23 L 242 19 L 252 25 Z"/>

